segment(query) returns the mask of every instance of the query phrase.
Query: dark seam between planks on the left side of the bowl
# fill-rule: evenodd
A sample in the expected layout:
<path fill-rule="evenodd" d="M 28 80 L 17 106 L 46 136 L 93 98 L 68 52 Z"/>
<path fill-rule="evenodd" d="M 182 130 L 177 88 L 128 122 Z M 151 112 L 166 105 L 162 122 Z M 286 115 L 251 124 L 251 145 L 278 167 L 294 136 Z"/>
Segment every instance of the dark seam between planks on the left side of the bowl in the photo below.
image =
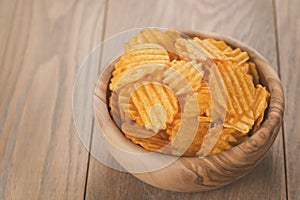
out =
<path fill-rule="evenodd" d="M 105 0 L 104 2 L 104 17 L 102 20 L 102 35 L 101 35 L 101 42 L 104 41 L 105 38 L 105 32 L 106 32 L 106 25 L 107 25 L 107 13 L 108 13 L 108 3 L 109 0 Z M 102 48 L 102 46 L 100 46 Z M 102 59 L 102 50 L 100 50 L 100 57 L 99 60 Z M 99 69 L 97 69 L 97 74 L 99 73 Z M 95 118 L 92 118 L 92 127 L 91 127 L 91 136 L 90 136 L 90 144 L 89 144 L 89 155 L 88 155 L 88 161 L 87 161 L 87 168 L 86 168 L 86 178 L 85 178 L 85 184 L 84 184 L 84 193 L 83 193 L 83 199 L 86 200 L 87 198 L 87 188 L 88 188 L 88 179 L 89 179 L 89 169 L 90 169 L 90 160 L 91 160 L 91 150 L 92 150 L 92 144 L 93 144 L 93 135 L 94 135 L 94 124 L 95 124 Z"/>

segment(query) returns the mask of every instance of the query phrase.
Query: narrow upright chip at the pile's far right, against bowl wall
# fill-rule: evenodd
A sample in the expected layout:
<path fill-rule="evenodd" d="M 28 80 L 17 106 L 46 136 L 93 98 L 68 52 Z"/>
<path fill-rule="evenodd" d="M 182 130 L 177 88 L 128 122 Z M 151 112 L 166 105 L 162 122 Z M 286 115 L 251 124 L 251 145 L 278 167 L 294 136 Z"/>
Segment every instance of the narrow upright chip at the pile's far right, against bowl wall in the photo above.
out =
<path fill-rule="evenodd" d="M 264 119 L 264 113 L 266 108 L 268 107 L 269 97 L 270 97 L 270 93 L 266 90 L 266 88 L 258 84 L 255 89 L 255 97 L 254 97 L 255 102 L 253 105 L 253 113 L 255 119 L 253 132 L 258 130 L 261 122 Z"/>

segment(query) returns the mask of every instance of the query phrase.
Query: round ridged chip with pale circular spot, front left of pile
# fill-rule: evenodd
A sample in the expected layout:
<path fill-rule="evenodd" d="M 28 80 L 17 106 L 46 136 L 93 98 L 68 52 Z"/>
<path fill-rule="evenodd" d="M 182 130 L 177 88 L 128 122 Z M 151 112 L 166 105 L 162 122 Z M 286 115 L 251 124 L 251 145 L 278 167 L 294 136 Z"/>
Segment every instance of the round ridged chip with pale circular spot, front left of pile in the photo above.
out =
<path fill-rule="evenodd" d="M 139 125 L 157 133 L 166 129 L 178 112 L 178 100 L 169 87 L 158 82 L 142 82 L 130 94 L 129 115 Z"/>

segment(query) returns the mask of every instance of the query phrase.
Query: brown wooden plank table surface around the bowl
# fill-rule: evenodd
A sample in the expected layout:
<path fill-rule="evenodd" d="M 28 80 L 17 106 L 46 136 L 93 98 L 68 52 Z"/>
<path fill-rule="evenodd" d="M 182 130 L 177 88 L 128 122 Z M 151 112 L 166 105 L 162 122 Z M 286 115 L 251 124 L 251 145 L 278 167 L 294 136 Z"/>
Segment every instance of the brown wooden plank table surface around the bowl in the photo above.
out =
<path fill-rule="evenodd" d="M 0 199 L 300 199 L 300 1 L 0 0 Z M 72 86 L 88 52 L 145 26 L 214 31 L 261 52 L 286 95 L 266 158 L 218 190 L 175 193 L 112 170 L 81 144 Z"/>

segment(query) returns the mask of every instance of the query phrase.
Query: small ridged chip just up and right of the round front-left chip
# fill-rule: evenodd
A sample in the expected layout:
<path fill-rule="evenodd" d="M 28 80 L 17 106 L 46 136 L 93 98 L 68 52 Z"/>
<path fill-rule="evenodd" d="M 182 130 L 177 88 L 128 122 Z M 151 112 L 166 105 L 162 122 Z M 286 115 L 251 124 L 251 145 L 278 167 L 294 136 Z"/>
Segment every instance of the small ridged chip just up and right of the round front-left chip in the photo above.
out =
<path fill-rule="evenodd" d="M 191 93 L 201 87 L 203 74 L 202 64 L 195 61 L 172 61 L 171 67 L 163 73 L 163 83 L 176 95 Z"/>

